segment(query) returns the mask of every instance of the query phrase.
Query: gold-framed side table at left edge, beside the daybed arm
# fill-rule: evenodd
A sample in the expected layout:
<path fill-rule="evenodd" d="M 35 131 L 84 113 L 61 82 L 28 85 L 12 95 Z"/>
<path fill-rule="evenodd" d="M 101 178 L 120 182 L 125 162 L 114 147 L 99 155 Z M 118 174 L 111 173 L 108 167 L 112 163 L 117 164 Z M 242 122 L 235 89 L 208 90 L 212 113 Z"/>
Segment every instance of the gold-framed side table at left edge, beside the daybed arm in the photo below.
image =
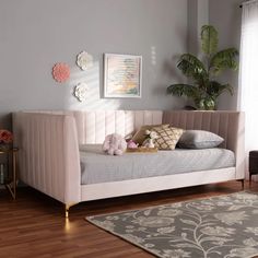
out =
<path fill-rule="evenodd" d="M 16 199 L 16 154 L 19 149 L 17 148 L 10 148 L 7 150 L 0 149 L 0 155 L 7 156 L 7 167 L 0 167 L 0 175 L 1 178 L 1 185 L 4 185 L 5 188 L 9 190 L 13 199 Z"/>

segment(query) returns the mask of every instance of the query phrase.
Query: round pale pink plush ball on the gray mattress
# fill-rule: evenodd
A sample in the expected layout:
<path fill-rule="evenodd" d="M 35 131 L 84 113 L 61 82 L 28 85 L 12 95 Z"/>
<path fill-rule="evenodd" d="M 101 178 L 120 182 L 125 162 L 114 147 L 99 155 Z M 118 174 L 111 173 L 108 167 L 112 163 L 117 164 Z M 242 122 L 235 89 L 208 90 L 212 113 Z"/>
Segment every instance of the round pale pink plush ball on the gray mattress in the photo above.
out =
<path fill-rule="evenodd" d="M 102 149 L 109 155 L 121 155 L 127 149 L 127 142 L 122 136 L 112 133 L 106 136 Z"/>

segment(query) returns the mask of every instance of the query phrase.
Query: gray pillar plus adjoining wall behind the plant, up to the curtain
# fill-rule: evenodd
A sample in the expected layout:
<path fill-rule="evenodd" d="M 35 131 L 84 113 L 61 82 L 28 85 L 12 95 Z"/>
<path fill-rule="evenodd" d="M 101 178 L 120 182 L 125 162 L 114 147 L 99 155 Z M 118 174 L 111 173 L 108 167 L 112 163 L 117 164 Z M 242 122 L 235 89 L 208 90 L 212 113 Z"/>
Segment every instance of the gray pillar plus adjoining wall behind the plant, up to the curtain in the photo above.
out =
<path fill-rule="evenodd" d="M 219 48 L 236 47 L 241 43 L 241 19 L 243 0 L 188 0 L 188 49 L 200 56 L 200 28 L 211 24 L 219 31 Z M 200 56 L 201 57 L 201 56 Z M 238 72 L 226 71 L 219 79 L 234 87 L 234 95 L 223 94 L 218 109 L 237 108 Z"/>

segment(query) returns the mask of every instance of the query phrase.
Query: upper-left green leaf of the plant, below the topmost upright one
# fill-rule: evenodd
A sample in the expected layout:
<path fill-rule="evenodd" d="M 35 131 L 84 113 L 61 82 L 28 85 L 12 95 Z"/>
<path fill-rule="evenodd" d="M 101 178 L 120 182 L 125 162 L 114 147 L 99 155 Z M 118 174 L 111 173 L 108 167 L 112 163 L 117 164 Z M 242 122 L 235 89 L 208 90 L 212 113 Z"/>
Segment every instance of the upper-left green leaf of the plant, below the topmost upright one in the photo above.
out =
<path fill-rule="evenodd" d="M 199 84 L 208 79 L 208 71 L 204 64 L 194 55 L 184 54 L 178 60 L 177 68 L 188 77 L 192 78 Z"/>

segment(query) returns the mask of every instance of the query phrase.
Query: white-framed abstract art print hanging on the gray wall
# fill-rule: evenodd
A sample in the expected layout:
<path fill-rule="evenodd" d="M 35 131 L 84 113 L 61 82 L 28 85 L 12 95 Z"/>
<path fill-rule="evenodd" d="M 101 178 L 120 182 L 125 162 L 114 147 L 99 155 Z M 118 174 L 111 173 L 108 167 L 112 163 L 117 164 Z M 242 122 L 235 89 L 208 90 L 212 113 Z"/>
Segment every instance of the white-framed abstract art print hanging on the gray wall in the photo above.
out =
<path fill-rule="evenodd" d="M 104 97 L 141 97 L 142 57 L 104 55 Z"/>

